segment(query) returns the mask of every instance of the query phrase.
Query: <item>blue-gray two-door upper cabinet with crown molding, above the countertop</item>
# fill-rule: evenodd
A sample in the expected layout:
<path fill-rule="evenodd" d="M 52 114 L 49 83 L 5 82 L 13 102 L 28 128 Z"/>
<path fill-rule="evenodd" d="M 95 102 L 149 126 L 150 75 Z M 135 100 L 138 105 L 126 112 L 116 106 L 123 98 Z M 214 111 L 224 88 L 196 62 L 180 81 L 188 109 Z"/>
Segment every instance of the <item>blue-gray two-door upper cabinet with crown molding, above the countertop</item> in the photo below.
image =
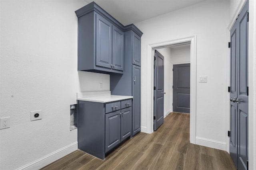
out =
<path fill-rule="evenodd" d="M 123 73 L 124 26 L 94 2 L 76 10 L 78 70 Z"/>

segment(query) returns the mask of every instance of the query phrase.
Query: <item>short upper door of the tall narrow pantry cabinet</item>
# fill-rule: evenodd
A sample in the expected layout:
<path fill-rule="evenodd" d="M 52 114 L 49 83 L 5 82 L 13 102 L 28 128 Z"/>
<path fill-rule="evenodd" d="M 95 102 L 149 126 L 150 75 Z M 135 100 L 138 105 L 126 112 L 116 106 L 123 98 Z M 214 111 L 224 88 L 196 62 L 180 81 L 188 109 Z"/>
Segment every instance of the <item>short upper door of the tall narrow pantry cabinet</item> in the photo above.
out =
<path fill-rule="evenodd" d="M 132 32 L 132 64 L 140 66 L 140 36 Z"/>

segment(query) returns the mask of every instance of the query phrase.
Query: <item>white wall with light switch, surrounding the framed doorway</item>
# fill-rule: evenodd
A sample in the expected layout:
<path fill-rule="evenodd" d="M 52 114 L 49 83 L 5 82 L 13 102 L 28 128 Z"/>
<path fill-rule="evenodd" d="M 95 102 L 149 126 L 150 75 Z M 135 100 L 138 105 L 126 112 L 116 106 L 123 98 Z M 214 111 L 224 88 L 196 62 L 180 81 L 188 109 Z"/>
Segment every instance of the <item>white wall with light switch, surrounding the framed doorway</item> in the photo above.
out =
<path fill-rule="evenodd" d="M 218 12 L 216 12 L 218 11 Z M 226 30 L 229 23 L 228 1 L 205 1 L 156 18 L 136 23 L 144 33 L 141 41 L 142 87 L 151 84 L 150 44 L 180 37 L 197 36 L 196 75 L 208 76 L 207 83 L 196 84 L 196 142 L 226 148 Z M 151 89 L 142 88 L 142 126 L 148 127 L 147 100 Z M 208 99 L 211 98 L 211 102 Z M 217 107 L 216 107 L 217 106 Z M 149 109 L 150 110 L 150 109 Z M 148 129 L 147 129 L 148 130 Z"/>

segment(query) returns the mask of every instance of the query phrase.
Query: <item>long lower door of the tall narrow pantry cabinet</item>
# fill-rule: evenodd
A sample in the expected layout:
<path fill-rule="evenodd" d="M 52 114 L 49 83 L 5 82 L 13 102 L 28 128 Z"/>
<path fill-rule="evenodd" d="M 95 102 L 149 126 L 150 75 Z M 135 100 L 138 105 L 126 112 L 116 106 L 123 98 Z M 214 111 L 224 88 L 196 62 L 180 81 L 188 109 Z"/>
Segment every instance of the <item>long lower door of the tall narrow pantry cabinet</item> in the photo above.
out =
<path fill-rule="evenodd" d="M 140 66 L 132 64 L 132 135 L 140 131 Z"/>

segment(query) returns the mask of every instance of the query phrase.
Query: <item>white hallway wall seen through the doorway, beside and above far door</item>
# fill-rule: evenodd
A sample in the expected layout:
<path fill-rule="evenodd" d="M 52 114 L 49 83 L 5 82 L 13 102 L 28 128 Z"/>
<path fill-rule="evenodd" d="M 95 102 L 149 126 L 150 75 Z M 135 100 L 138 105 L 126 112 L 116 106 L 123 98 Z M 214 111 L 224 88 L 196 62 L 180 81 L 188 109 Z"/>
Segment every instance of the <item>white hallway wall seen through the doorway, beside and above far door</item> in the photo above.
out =
<path fill-rule="evenodd" d="M 164 117 L 173 111 L 173 64 L 190 63 L 190 44 L 157 49 L 164 56 Z"/>

